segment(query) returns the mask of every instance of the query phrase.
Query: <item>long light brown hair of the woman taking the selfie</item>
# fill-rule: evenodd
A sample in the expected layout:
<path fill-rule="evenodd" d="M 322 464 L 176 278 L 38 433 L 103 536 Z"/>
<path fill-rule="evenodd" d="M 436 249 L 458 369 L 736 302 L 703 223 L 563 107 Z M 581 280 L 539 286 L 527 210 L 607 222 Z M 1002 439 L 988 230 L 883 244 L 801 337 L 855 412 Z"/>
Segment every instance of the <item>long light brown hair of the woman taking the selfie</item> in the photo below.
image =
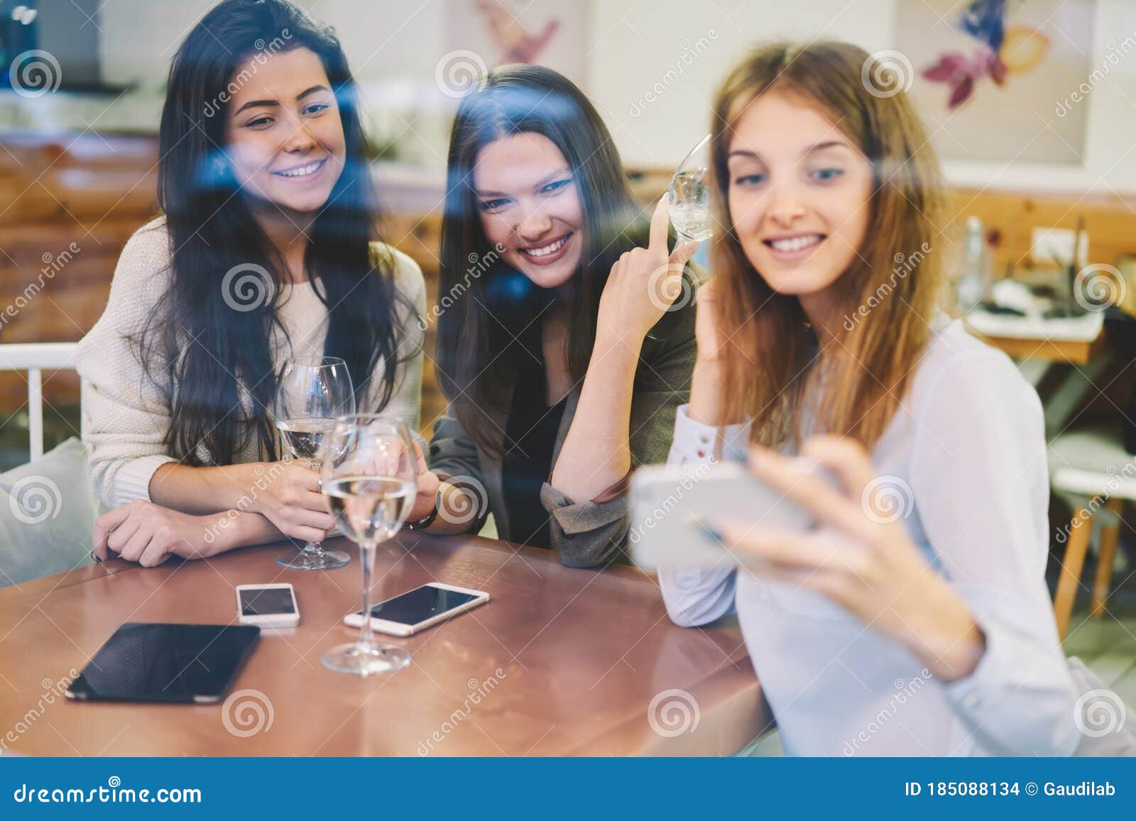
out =
<path fill-rule="evenodd" d="M 944 191 L 927 132 L 907 94 L 894 86 L 902 77 L 888 72 L 849 43 L 775 43 L 750 53 L 716 95 L 712 199 L 716 224 L 727 226 L 711 246 L 715 313 L 727 342 L 720 391 L 730 418 L 753 420 L 757 442 L 799 442 L 809 402 L 813 433 L 850 436 L 870 449 L 900 407 L 929 338 L 943 257 L 935 244 Z M 884 91 L 872 84 L 880 78 Z M 844 321 L 820 354 L 822 391 L 800 301 L 775 292 L 758 274 L 729 215 L 726 159 L 734 127 L 755 98 L 772 91 L 818 107 L 872 165 L 869 231 L 859 255 L 833 285 Z"/>

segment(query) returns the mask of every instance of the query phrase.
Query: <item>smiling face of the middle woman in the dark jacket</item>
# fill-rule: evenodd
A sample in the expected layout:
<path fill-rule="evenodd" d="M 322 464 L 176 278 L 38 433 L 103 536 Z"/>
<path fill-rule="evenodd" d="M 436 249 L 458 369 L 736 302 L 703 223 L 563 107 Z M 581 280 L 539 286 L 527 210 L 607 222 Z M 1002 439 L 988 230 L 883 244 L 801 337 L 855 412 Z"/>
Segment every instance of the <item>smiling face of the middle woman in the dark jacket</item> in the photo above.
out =
<path fill-rule="evenodd" d="M 541 287 L 568 282 L 584 252 L 584 210 L 556 143 L 532 132 L 495 140 L 477 152 L 473 182 L 485 237 L 504 260 Z"/>

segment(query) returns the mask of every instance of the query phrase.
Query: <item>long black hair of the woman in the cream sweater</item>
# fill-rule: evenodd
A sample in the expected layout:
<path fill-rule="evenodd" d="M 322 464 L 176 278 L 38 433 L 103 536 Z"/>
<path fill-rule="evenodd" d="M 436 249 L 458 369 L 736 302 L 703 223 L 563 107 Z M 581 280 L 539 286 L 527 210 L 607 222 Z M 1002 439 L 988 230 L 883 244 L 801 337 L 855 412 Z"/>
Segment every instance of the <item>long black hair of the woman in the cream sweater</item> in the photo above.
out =
<path fill-rule="evenodd" d="M 253 437 L 261 458 L 277 459 L 270 345 L 274 328 L 285 333 L 275 299 L 285 265 L 239 190 L 224 134 L 237 69 L 298 48 L 323 62 L 345 141 L 343 170 L 307 232 L 304 266 L 328 310 L 325 353 L 345 360 L 357 404 L 369 395 L 382 359 L 378 407 L 360 405 L 360 412 L 381 410 L 394 389 L 396 304 L 404 300 L 391 260 L 370 259 L 378 201 L 340 42 L 286 0 L 224 0 L 193 27 L 169 69 L 158 203 L 172 243 L 170 280 L 137 338 L 148 369 L 168 363 L 169 374 L 161 374 L 173 385 L 166 445 L 187 464 L 232 463 Z M 241 411 L 242 400 L 251 400 L 251 416 Z"/>

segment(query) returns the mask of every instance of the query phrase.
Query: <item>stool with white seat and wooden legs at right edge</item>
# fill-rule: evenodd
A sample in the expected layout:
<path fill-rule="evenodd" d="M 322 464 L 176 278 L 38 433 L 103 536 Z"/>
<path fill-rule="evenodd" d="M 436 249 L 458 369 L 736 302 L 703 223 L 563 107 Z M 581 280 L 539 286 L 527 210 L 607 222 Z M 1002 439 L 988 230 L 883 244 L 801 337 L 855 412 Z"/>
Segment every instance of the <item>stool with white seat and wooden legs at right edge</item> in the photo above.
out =
<path fill-rule="evenodd" d="M 1136 454 L 1125 450 L 1122 438 L 1119 427 L 1092 428 L 1061 434 L 1050 443 L 1050 484 L 1054 493 L 1071 499 L 1074 506 L 1053 596 L 1062 640 L 1080 587 L 1094 522 L 1100 523 L 1101 537 L 1089 612 L 1097 619 L 1104 614 L 1120 537 L 1120 512 L 1125 500 L 1136 501 Z"/>

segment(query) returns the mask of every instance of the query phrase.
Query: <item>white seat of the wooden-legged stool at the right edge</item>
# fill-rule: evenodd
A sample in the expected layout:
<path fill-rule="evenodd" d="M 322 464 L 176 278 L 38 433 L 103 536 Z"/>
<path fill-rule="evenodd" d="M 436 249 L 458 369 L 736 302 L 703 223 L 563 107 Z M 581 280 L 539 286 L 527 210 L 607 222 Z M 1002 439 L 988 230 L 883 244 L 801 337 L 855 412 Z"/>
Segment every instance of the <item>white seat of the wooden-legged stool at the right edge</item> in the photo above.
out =
<path fill-rule="evenodd" d="M 1049 460 L 1054 491 L 1136 500 L 1136 456 L 1125 450 L 1119 427 L 1061 434 Z"/>

